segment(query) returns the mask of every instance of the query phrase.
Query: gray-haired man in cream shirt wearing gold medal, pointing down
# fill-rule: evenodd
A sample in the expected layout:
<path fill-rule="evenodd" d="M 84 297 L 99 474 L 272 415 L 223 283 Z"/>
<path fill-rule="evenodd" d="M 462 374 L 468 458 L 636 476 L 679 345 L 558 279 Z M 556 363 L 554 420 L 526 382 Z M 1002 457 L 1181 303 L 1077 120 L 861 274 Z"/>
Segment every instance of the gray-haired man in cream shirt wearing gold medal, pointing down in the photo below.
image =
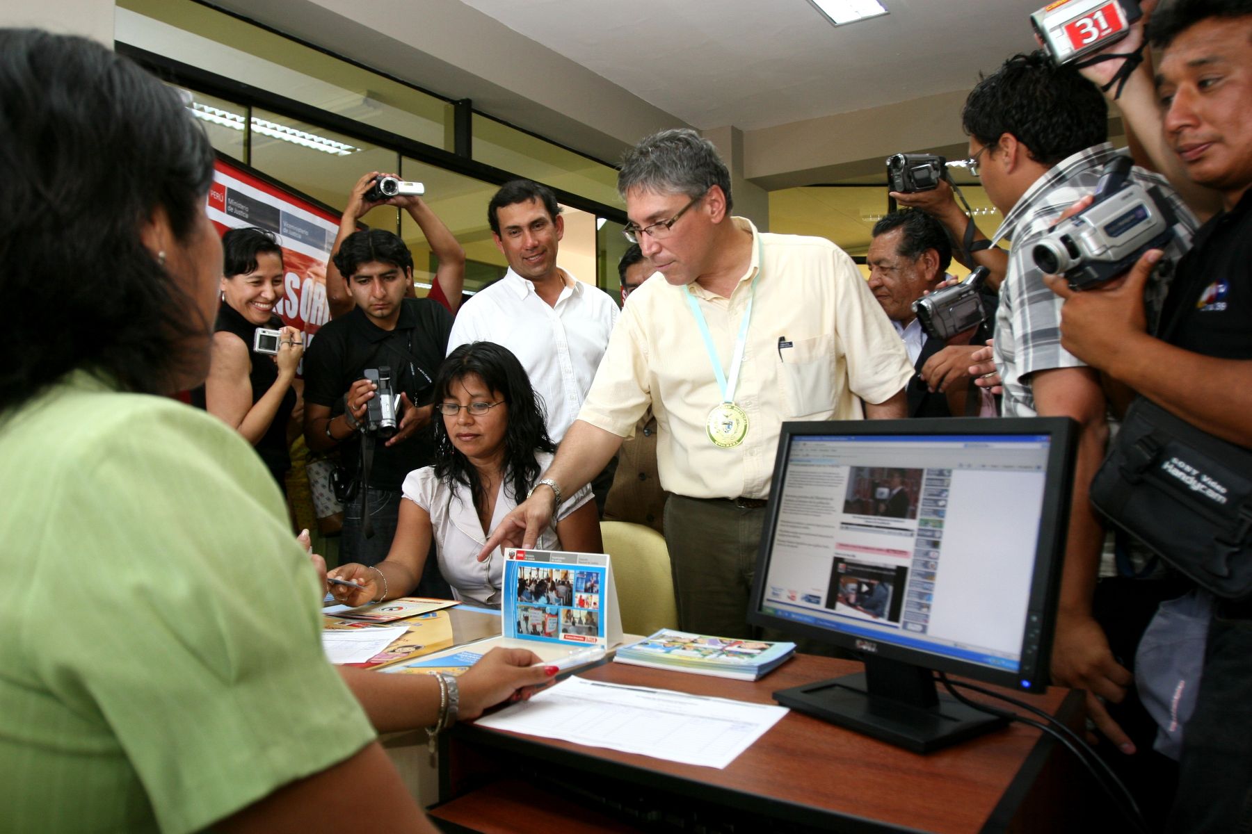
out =
<path fill-rule="evenodd" d="M 730 215 L 712 144 L 666 130 L 627 153 L 626 236 L 664 281 L 622 310 L 578 419 L 532 496 L 496 528 L 531 546 L 652 408 L 679 625 L 750 636 L 747 599 L 784 420 L 903 418 L 913 373 L 851 258 Z"/>

